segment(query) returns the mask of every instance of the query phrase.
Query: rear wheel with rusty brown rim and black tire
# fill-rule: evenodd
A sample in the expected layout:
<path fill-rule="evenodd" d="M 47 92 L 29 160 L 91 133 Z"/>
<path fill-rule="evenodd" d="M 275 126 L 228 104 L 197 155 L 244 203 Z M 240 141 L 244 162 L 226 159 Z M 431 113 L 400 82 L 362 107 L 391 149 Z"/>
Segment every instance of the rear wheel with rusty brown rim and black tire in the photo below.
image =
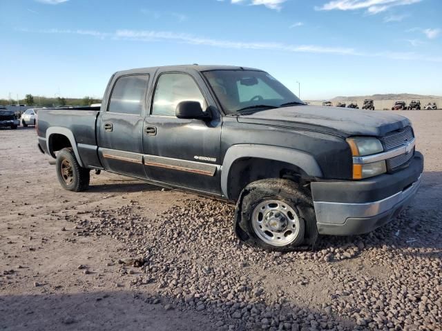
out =
<path fill-rule="evenodd" d="M 55 167 L 58 181 L 65 190 L 81 192 L 88 189 L 90 170 L 80 167 L 72 148 L 64 148 L 59 152 Z"/>

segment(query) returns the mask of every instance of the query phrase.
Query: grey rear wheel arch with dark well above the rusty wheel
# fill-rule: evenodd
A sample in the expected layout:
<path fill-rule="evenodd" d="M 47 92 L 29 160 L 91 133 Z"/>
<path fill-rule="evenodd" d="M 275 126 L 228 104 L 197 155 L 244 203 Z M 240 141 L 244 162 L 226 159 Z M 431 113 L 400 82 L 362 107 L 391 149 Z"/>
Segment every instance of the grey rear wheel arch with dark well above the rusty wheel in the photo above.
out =
<path fill-rule="evenodd" d="M 83 167 L 83 162 L 81 161 L 77 141 L 72 131 L 68 128 L 62 127 L 50 127 L 46 130 L 46 147 L 51 157 L 55 158 L 55 152 L 63 148 L 72 148 L 80 167 Z"/>

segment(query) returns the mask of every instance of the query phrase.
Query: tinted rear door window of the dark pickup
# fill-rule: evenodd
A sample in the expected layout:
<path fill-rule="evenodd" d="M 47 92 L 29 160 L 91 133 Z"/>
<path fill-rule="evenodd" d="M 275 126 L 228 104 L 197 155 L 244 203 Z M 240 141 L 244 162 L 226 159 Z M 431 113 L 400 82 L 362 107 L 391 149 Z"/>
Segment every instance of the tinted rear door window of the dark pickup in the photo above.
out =
<path fill-rule="evenodd" d="M 123 76 L 113 87 L 109 112 L 140 115 L 146 95 L 148 75 Z"/>

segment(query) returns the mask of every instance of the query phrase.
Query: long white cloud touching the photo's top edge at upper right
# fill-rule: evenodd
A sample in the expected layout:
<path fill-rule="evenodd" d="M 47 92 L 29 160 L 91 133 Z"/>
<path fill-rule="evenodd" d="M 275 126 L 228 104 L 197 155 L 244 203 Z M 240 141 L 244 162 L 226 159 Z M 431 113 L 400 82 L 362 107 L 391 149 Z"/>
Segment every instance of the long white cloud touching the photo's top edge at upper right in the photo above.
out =
<path fill-rule="evenodd" d="M 316 10 L 361 10 L 369 14 L 378 14 L 394 6 L 412 5 L 423 0 L 333 0 L 325 3 Z"/>

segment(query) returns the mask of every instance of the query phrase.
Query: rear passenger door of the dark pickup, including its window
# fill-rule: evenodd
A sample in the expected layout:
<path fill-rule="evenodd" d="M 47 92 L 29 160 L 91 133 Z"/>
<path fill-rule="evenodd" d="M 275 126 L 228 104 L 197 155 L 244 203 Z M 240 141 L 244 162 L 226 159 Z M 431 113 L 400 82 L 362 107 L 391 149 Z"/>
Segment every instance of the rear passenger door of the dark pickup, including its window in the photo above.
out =
<path fill-rule="evenodd" d="M 106 170 L 145 178 L 142 131 L 148 74 L 118 77 L 99 116 L 99 157 Z"/>

